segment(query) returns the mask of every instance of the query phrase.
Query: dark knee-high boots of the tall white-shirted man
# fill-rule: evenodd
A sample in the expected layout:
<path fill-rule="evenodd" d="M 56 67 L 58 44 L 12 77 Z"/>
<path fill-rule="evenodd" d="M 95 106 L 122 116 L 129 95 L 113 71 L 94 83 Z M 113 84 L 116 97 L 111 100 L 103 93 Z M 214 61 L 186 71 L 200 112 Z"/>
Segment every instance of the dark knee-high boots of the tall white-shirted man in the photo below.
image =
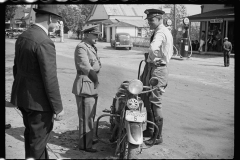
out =
<path fill-rule="evenodd" d="M 158 126 L 159 131 L 157 133 L 156 129 L 154 130 L 152 137 L 149 140 L 145 141 L 146 145 L 151 145 L 153 143 L 153 139 L 155 136 L 157 136 L 157 138 L 155 140 L 154 145 L 158 145 L 163 142 L 163 139 L 162 139 L 163 118 L 160 118 L 159 116 L 155 117 L 155 123 Z"/>

